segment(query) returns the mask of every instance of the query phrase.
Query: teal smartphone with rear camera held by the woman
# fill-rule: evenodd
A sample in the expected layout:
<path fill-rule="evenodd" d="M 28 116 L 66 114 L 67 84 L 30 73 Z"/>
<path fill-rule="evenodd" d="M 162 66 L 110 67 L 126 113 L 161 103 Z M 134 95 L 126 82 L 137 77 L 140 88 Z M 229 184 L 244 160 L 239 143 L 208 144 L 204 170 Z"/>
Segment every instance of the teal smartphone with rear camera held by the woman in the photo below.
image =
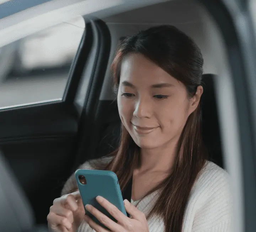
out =
<path fill-rule="evenodd" d="M 108 216 L 111 220 L 117 222 L 117 220 L 97 202 L 96 197 L 101 196 L 107 199 L 111 204 L 115 205 L 127 216 L 116 173 L 106 170 L 78 169 L 75 172 L 75 178 L 84 207 L 86 204 L 90 204 Z M 93 221 L 103 228 L 107 228 L 86 209 L 85 214 L 91 217 Z"/>

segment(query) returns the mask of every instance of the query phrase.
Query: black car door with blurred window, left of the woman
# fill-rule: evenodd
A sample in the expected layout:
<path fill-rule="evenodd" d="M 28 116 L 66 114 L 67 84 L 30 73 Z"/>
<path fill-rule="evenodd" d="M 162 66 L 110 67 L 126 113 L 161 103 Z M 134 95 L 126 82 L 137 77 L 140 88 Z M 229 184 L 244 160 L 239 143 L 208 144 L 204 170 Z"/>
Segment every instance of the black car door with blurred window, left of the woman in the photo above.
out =
<path fill-rule="evenodd" d="M 109 55 L 107 32 L 102 21 L 78 17 L 2 47 L 0 148 L 37 223 L 46 223 L 81 139 L 93 130 L 90 119 Z M 10 59 L 4 63 L 5 57 Z"/>

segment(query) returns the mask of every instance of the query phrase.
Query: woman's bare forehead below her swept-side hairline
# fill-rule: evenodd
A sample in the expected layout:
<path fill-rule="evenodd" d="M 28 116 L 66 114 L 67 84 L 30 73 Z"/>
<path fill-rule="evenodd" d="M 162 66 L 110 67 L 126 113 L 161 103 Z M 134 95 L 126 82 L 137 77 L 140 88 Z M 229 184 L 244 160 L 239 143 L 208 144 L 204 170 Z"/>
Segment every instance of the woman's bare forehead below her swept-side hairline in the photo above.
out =
<path fill-rule="evenodd" d="M 128 54 L 121 64 L 120 83 L 132 82 L 134 85 L 152 85 L 161 82 L 175 84 L 178 82 L 169 73 L 147 59 L 142 54 Z"/>

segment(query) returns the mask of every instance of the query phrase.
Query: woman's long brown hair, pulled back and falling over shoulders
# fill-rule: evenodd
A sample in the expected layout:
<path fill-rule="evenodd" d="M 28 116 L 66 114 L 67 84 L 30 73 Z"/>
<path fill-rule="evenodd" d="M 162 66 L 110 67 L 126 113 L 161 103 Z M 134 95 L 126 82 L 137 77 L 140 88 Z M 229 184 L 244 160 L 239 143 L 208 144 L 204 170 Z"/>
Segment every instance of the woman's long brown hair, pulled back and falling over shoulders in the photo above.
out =
<path fill-rule="evenodd" d="M 156 26 L 129 36 L 119 43 L 112 63 L 114 88 L 118 89 L 121 62 L 128 53 L 140 53 L 156 63 L 172 77 L 181 81 L 191 98 L 201 85 L 203 58 L 200 49 L 186 34 L 174 26 Z M 92 164 L 96 169 L 116 173 L 123 190 L 139 166 L 140 148 L 122 125 L 119 148 L 108 156 L 113 160 L 102 165 Z M 155 205 L 146 218 L 153 215 L 162 217 L 166 232 L 182 230 L 183 215 L 196 178 L 208 159 L 201 136 L 201 109 L 188 117 L 177 144 L 176 161 L 172 172 L 146 195 L 161 190 Z"/>

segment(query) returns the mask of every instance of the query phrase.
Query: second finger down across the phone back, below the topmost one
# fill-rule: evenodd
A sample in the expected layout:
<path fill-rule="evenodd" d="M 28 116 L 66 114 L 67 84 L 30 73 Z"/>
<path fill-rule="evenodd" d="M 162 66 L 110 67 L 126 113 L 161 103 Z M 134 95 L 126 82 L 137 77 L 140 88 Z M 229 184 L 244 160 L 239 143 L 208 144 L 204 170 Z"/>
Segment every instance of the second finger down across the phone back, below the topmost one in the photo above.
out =
<path fill-rule="evenodd" d="M 94 215 L 103 225 L 108 227 L 111 231 L 121 231 L 121 225 L 112 221 L 108 216 L 97 210 L 94 206 L 86 205 L 86 210 Z"/>

